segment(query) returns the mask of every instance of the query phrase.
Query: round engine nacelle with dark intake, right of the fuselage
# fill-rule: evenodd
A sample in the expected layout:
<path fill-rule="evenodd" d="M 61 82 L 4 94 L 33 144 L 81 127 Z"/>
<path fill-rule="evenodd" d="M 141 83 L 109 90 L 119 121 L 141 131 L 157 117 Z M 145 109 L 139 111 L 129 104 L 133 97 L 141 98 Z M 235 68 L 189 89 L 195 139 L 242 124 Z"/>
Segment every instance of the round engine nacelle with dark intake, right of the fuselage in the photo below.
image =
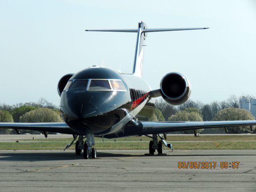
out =
<path fill-rule="evenodd" d="M 162 78 L 160 92 L 162 98 L 169 104 L 180 105 L 190 96 L 190 83 L 182 74 L 171 72 Z"/>

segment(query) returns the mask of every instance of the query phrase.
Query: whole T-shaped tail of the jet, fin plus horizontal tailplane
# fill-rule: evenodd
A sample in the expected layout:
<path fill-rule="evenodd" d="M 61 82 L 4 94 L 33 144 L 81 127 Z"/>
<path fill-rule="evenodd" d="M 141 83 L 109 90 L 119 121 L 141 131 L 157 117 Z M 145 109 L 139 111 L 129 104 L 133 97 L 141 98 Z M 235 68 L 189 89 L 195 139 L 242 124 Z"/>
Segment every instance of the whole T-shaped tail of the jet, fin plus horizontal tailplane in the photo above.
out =
<path fill-rule="evenodd" d="M 142 77 L 143 66 L 143 52 L 145 46 L 145 40 L 147 33 L 149 32 L 163 32 L 163 31 L 181 31 L 181 30 L 196 30 L 196 29 L 208 29 L 204 28 L 158 28 L 148 29 L 146 23 L 138 23 L 138 29 L 99 29 L 99 30 L 86 30 L 86 31 L 102 31 L 102 32 L 132 32 L 137 33 L 136 48 L 134 55 L 134 63 L 132 74 Z"/>

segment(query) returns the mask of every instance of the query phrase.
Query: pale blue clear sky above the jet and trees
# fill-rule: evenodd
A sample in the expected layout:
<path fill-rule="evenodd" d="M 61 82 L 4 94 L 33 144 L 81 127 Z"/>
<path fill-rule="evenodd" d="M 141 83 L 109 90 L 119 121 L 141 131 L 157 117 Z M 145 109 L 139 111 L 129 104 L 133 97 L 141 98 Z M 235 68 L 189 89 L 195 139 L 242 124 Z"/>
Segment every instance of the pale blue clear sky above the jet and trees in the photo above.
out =
<path fill-rule="evenodd" d="M 0 103 L 59 105 L 58 80 L 92 65 L 132 72 L 135 33 L 85 29 L 210 27 L 148 34 L 143 78 L 152 89 L 184 74 L 191 99 L 256 96 L 255 0 L 0 0 Z"/>

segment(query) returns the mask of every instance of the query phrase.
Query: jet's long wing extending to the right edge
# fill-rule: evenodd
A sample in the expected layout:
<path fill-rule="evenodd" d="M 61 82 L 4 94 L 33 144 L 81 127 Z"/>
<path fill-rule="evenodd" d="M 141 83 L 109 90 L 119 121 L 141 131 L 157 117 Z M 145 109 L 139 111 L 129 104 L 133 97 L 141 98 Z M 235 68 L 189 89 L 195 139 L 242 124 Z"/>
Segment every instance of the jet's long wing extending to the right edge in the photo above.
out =
<path fill-rule="evenodd" d="M 142 126 L 142 134 L 158 134 L 166 132 L 206 129 L 206 128 L 226 128 L 235 126 L 254 126 L 256 120 L 244 121 L 203 121 L 203 122 L 138 122 Z M 251 127 L 252 128 L 252 127 Z"/>

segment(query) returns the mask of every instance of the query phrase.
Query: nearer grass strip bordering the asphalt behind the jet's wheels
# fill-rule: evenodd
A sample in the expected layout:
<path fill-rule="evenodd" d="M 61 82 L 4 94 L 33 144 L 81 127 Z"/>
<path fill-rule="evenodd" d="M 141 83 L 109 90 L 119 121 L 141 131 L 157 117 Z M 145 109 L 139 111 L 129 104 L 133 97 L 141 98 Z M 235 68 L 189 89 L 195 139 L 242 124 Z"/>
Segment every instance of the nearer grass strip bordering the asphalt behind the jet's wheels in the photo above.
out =
<path fill-rule="evenodd" d="M 0 150 L 63 150 L 68 142 L 0 142 Z M 148 149 L 146 142 L 96 142 L 97 149 Z M 175 142 L 175 149 L 256 149 L 255 142 Z M 74 149 L 74 145 L 70 149 Z M 168 148 L 166 148 L 168 149 Z"/>

